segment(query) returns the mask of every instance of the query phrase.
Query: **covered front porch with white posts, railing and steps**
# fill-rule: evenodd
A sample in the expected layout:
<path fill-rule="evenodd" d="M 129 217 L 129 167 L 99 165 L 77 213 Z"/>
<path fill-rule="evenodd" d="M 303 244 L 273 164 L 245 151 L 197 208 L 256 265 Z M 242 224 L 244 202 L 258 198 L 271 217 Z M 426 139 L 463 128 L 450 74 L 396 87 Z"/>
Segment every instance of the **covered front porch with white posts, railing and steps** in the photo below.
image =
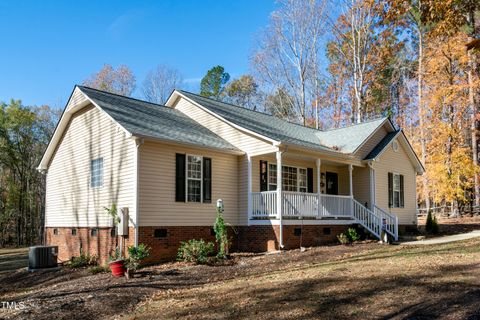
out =
<path fill-rule="evenodd" d="M 279 151 L 248 157 L 247 181 L 249 224 L 351 220 L 377 238 L 385 231 L 398 239 L 398 218 L 375 205 L 374 172 L 365 164 Z"/>

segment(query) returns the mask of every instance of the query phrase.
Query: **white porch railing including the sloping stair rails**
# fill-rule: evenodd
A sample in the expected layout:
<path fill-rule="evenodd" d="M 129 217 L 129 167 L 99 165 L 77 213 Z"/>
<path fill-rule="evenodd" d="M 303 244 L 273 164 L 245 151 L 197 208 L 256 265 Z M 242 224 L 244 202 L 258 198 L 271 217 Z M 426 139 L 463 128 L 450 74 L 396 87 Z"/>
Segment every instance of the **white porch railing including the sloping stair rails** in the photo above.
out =
<path fill-rule="evenodd" d="M 252 192 L 252 218 L 277 217 L 277 192 Z M 320 200 L 320 201 L 319 201 Z M 398 240 L 398 218 L 379 207 L 373 210 L 351 196 L 316 193 L 282 192 L 282 216 L 285 218 L 306 217 L 351 217 L 370 233 L 380 239 L 382 228 Z"/>

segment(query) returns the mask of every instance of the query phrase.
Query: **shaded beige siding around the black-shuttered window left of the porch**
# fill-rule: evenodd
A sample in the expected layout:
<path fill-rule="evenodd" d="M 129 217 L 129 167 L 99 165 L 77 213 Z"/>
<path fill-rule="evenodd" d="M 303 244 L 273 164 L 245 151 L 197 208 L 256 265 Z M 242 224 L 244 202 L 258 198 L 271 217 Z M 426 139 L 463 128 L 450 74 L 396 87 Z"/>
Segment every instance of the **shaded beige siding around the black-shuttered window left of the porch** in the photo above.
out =
<path fill-rule="evenodd" d="M 212 202 L 175 202 L 175 154 L 212 159 Z M 216 200 L 223 199 L 227 223 L 238 224 L 236 155 L 146 140 L 139 148 L 140 226 L 210 226 Z"/>

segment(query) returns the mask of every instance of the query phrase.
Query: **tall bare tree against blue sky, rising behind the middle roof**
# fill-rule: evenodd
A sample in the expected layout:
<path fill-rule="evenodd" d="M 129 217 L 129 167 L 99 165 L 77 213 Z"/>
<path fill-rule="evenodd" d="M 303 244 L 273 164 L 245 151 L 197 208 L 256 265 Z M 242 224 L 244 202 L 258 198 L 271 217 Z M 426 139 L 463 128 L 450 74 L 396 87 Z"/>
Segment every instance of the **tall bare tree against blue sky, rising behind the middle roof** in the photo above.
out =
<path fill-rule="evenodd" d="M 270 16 L 252 63 L 258 78 L 272 93 L 291 97 L 295 113 L 307 123 L 307 105 L 318 89 L 319 39 L 324 32 L 325 1 L 281 0 Z"/>

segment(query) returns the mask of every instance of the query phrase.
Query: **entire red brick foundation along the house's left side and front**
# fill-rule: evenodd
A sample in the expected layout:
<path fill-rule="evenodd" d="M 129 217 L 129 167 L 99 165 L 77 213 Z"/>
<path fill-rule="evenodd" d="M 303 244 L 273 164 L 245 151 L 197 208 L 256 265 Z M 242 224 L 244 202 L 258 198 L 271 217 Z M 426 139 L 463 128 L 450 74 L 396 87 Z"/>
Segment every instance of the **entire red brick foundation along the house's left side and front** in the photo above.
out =
<path fill-rule="evenodd" d="M 346 231 L 351 225 L 284 225 L 283 239 L 285 249 L 300 246 L 313 247 L 333 243 L 337 235 Z M 54 235 L 54 229 L 58 234 Z M 46 228 L 47 244 L 57 245 L 59 260 L 66 261 L 80 254 L 80 248 L 90 255 L 99 257 L 100 263 L 108 262 L 109 255 L 115 250 L 119 239 L 111 236 L 111 228 L 98 228 L 97 236 L 91 236 L 91 228 L 76 228 L 77 235 L 72 235 L 72 228 Z M 155 230 L 162 229 L 155 236 Z M 298 230 L 296 230 L 298 229 Z M 301 229 L 301 236 L 295 232 Z M 235 232 L 229 228 L 231 251 L 266 252 L 279 250 L 279 226 L 239 226 Z M 165 234 L 166 231 L 166 234 Z M 129 228 L 129 236 L 125 238 L 124 250 L 134 244 L 135 229 Z M 211 226 L 155 226 L 140 227 L 138 242 L 151 248 L 147 263 L 175 259 L 182 241 L 203 239 L 215 243 L 215 235 Z"/>

